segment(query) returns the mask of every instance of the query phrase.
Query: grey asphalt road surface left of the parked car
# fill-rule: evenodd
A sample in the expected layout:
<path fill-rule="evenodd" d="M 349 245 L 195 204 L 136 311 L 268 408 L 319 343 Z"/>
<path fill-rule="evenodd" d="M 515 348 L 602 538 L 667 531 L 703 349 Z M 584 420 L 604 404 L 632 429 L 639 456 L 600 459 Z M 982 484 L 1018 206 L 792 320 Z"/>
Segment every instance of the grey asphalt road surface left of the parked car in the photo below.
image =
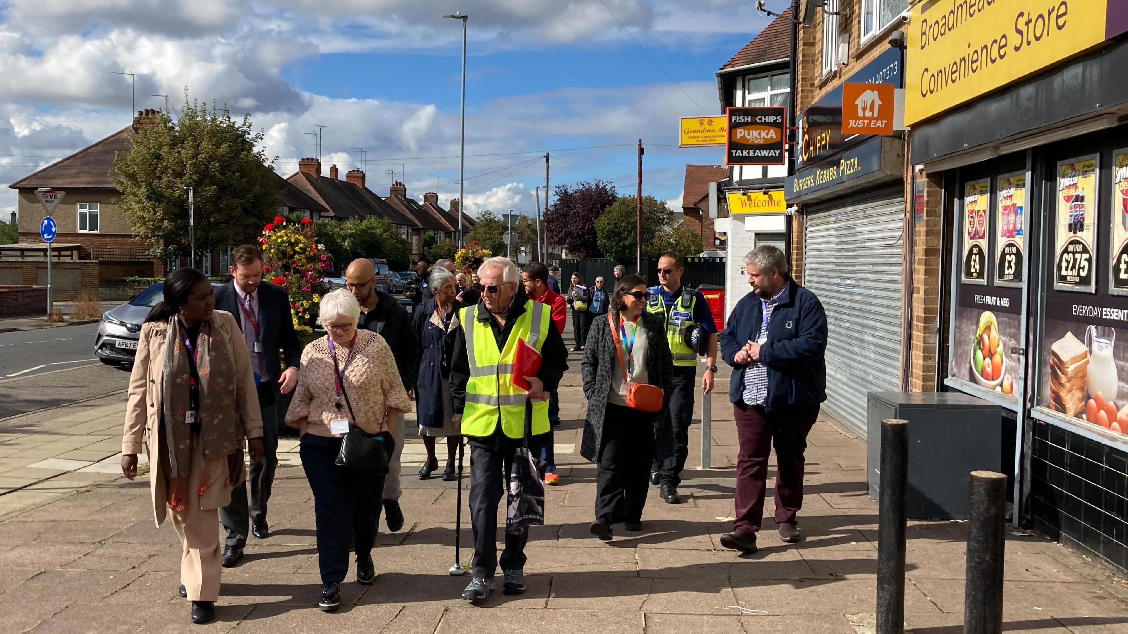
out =
<path fill-rule="evenodd" d="M 88 324 L 0 333 L 0 419 L 125 389 L 129 372 L 94 356 L 97 331 Z"/>

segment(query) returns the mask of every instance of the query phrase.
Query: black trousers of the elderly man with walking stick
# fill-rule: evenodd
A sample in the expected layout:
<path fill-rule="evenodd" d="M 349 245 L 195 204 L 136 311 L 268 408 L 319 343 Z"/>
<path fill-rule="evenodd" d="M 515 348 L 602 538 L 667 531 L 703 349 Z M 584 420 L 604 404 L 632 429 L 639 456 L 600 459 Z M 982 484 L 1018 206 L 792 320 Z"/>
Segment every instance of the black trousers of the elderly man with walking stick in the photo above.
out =
<path fill-rule="evenodd" d="M 513 449 L 520 441 L 499 442 L 494 448 L 470 444 L 470 522 L 474 526 L 474 558 L 470 569 L 476 578 L 492 579 L 497 569 L 497 504 L 509 487 Z M 536 455 L 536 449 L 534 449 Z M 505 531 L 501 569 L 525 567 L 525 543 L 529 529 L 518 535 Z"/>

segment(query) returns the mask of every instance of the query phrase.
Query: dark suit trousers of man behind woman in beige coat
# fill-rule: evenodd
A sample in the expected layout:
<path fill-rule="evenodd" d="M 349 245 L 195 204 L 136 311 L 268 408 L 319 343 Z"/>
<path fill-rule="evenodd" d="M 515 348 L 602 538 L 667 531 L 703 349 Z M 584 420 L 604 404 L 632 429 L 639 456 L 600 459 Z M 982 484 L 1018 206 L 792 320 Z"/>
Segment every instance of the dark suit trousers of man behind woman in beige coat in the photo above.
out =
<path fill-rule="evenodd" d="M 243 548 L 247 545 L 249 525 L 266 521 L 266 503 L 274 488 L 274 472 L 279 466 L 279 425 L 275 407 L 274 381 L 258 385 L 258 402 L 263 405 L 263 458 L 250 466 L 246 484 L 231 490 L 231 503 L 219 510 L 219 519 L 227 531 L 227 545 Z M 264 391 L 266 394 L 264 394 Z M 250 503 L 247 503 L 247 487 L 250 487 Z"/>

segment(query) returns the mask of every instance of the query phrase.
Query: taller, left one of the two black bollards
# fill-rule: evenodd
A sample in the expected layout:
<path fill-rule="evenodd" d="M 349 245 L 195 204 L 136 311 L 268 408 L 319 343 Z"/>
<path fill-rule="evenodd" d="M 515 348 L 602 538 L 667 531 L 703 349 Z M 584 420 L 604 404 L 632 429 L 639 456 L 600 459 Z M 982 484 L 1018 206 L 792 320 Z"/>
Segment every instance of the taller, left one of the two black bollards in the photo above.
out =
<path fill-rule="evenodd" d="M 881 421 L 876 634 L 905 632 L 905 483 L 908 479 L 908 421 Z"/>

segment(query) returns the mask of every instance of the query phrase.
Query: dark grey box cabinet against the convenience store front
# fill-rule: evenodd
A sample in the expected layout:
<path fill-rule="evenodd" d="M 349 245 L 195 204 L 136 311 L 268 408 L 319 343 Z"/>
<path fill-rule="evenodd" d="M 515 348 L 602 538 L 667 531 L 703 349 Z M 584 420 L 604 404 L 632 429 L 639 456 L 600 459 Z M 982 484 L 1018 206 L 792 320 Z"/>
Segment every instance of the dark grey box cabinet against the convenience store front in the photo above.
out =
<path fill-rule="evenodd" d="M 866 416 L 866 481 L 880 495 L 881 421 L 902 419 L 908 429 L 909 519 L 967 519 L 969 473 L 1002 470 L 1003 408 L 953 391 L 871 391 Z"/>

